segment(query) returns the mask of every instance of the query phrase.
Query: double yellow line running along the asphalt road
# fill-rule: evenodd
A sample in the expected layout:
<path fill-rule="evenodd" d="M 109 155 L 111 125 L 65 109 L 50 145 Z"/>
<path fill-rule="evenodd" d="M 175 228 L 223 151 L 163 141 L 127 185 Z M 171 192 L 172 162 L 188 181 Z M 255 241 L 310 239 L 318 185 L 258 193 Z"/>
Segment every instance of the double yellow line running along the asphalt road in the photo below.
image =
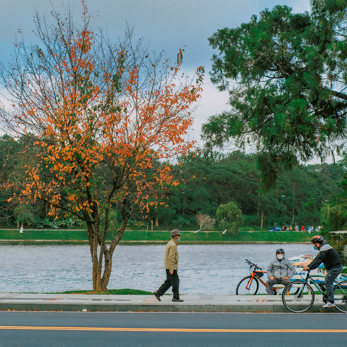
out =
<path fill-rule="evenodd" d="M 347 332 L 347 329 L 185 329 L 185 328 L 96 328 L 96 327 L 27 327 L 1 325 L 0 329 L 19 330 L 87 330 L 148 332 Z"/>

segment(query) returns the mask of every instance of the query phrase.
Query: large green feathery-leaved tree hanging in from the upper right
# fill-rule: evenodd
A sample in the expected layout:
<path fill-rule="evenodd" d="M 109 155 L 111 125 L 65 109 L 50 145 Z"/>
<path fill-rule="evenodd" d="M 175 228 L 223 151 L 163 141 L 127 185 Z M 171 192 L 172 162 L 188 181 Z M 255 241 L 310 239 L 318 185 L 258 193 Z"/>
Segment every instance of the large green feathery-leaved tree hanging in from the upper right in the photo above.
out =
<path fill-rule="evenodd" d="M 209 38 L 219 51 L 211 81 L 229 90 L 231 110 L 203 125 L 206 149 L 251 145 L 266 187 L 298 159 L 340 153 L 347 137 L 347 0 L 311 6 L 304 14 L 265 9 Z"/>

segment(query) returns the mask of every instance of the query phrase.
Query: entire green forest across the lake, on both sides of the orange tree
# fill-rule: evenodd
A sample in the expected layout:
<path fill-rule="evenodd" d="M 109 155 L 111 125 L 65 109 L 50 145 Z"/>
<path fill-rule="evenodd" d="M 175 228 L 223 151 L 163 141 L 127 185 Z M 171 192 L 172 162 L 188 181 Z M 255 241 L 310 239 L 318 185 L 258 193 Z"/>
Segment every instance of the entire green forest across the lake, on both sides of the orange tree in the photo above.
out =
<path fill-rule="evenodd" d="M 31 151 L 33 147 L 26 141 L 13 141 L 8 135 L 3 135 L 1 140 L 0 165 L 11 161 L 19 179 L 25 165 L 20 153 Z M 268 229 L 277 224 L 277 214 L 280 227 L 318 226 L 321 223 L 321 207 L 340 192 L 337 182 L 343 172 L 339 164 L 299 165 L 293 171 L 281 172 L 277 186 L 264 192 L 256 167 L 256 155 L 240 151 L 228 154 L 214 152 L 208 157 L 189 153 L 185 158 L 179 158 L 178 162 L 172 166 L 172 171 L 183 182 L 176 187 L 168 186 L 166 196 L 162 200 L 158 196 L 158 205 L 151 207 L 148 213 L 136 213 L 135 206 L 135 216 L 129 220 L 128 227 L 146 227 L 153 220 L 156 229 L 174 228 L 178 226 L 179 217 L 182 230 L 194 230 L 197 214 L 215 218 L 218 207 L 230 201 L 241 209 L 243 226 Z M 3 171 L 2 179 L 6 179 L 8 174 Z M 53 226 L 52 217 L 47 215 L 48 206 L 39 202 L 18 206 L 8 204 L 3 189 L 0 207 L 2 224 Z M 147 217 L 143 218 L 144 215 Z M 120 211 L 113 211 L 110 217 L 113 226 L 119 226 Z M 72 227 L 77 223 L 70 216 L 61 215 L 54 222 L 54 227 Z"/>

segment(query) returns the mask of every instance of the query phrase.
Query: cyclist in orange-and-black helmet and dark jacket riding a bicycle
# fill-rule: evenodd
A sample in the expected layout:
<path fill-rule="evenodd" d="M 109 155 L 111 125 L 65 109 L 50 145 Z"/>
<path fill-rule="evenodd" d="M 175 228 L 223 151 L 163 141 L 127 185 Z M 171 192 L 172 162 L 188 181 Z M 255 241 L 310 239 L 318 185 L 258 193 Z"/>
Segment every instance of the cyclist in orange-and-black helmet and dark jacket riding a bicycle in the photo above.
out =
<path fill-rule="evenodd" d="M 319 252 L 310 264 L 304 266 L 304 270 L 316 269 L 323 262 L 325 269 L 328 271 L 324 281 L 325 288 L 327 289 L 328 302 L 323 307 L 335 306 L 333 282 L 343 268 L 340 257 L 335 249 L 328 244 L 328 240 L 323 239 L 320 235 L 313 236 L 311 243 L 313 244 L 313 248 L 318 249 Z"/>

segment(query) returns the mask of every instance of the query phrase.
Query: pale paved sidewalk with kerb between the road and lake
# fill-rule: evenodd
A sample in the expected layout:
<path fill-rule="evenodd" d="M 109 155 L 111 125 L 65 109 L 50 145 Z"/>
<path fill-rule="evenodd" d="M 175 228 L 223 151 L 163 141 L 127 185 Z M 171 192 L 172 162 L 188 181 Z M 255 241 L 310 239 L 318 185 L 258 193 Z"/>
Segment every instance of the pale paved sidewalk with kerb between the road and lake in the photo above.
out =
<path fill-rule="evenodd" d="M 182 295 L 182 303 L 164 295 L 16 294 L 0 293 L 0 310 L 20 311 L 157 311 L 157 312 L 288 312 L 276 295 Z M 315 298 L 308 312 L 338 312 L 322 308 Z"/>

